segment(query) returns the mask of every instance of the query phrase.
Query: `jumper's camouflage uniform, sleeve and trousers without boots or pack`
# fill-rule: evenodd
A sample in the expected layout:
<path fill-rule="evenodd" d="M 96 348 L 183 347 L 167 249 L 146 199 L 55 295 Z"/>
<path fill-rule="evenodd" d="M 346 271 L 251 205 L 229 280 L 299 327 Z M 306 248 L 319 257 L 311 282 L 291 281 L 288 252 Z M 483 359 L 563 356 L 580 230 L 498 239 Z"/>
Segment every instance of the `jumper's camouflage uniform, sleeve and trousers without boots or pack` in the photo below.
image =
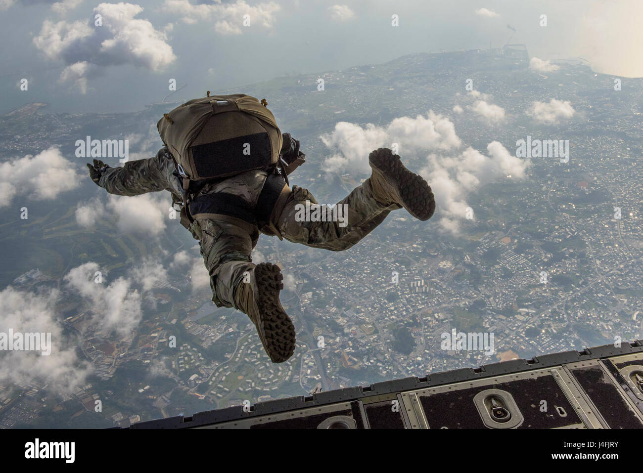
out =
<path fill-rule="evenodd" d="M 255 208 L 268 174 L 267 170 L 244 172 L 206 184 L 198 195 L 233 193 Z M 371 179 L 338 202 L 338 205 L 348 204 L 348 224 L 344 227 L 338 222 L 298 222 L 295 219 L 297 204 L 305 206 L 307 201 L 311 202 L 311 213 L 318 206 L 312 194 L 298 186 L 284 189 L 270 224 L 264 228 L 234 217 L 210 215 L 204 218 L 197 215 L 190 232 L 201 245 L 201 256 L 210 272 L 215 304 L 218 307 L 235 307 L 248 314 L 248 291 L 236 289 L 240 287 L 244 272 L 252 271 L 255 267 L 251 251 L 257 245 L 260 233 L 332 251 L 348 249 L 368 235 L 390 211 L 401 208 L 398 204 L 387 205 L 376 201 Z M 98 184 L 116 195 L 168 190 L 174 202 L 182 201 L 183 189 L 174 161 L 165 148 L 155 157 L 130 161 L 118 168 L 107 168 Z"/>

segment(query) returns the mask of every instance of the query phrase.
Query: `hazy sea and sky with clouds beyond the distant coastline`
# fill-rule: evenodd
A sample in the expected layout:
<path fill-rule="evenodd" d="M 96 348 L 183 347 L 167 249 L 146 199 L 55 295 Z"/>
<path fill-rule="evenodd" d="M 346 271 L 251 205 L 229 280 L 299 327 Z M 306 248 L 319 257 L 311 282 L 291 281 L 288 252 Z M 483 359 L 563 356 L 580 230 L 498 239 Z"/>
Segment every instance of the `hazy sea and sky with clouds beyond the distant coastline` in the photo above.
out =
<path fill-rule="evenodd" d="M 131 112 L 161 102 L 172 78 L 183 95 L 203 96 L 510 37 L 538 58 L 643 76 L 642 20 L 639 0 L 0 0 L 0 114 L 30 102 Z"/>

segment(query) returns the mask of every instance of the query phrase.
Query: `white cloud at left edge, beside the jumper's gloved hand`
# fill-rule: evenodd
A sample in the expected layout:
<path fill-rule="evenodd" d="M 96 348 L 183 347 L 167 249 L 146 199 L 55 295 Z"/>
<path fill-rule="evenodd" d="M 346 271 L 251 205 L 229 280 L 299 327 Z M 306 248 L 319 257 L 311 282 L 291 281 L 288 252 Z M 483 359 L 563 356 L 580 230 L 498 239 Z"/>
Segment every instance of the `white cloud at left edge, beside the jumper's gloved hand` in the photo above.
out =
<path fill-rule="evenodd" d="M 36 156 L 28 154 L 6 161 L 0 164 L 0 207 L 8 206 L 14 197 L 55 199 L 62 192 L 78 188 L 82 177 L 56 147 Z"/>

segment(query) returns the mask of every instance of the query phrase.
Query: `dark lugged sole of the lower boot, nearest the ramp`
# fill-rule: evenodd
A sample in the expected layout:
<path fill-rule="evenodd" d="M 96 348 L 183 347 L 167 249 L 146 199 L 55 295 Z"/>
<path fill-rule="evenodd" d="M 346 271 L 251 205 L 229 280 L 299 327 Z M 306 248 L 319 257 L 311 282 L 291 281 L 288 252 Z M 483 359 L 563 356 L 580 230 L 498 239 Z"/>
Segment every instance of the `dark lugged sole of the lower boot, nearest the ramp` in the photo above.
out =
<path fill-rule="evenodd" d="M 259 310 L 259 330 L 266 353 L 273 363 L 282 363 L 293 356 L 295 333 L 293 321 L 279 301 L 284 289 L 284 275 L 277 265 L 259 263 L 255 267 Z"/>

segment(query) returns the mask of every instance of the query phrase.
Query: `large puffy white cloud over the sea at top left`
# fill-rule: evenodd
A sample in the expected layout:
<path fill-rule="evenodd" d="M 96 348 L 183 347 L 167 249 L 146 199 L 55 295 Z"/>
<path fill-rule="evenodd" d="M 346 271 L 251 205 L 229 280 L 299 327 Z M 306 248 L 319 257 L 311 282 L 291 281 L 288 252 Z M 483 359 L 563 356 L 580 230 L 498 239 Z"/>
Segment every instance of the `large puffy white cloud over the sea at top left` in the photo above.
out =
<path fill-rule="evenodd" d="M 163 31 L 152 23 L 135 18 L 143 8 L 131 3 L 100 3 L 94 13 L 102 16 L 102 26 L 87 21 L 45 20 L 33 44 L 50 60 L 62 60 L 68 67 L 60 80 L 74 82 L 82 93 L 87 78 L 102 67 L 133 64 L 161 71 L 176 56 Z"/>

